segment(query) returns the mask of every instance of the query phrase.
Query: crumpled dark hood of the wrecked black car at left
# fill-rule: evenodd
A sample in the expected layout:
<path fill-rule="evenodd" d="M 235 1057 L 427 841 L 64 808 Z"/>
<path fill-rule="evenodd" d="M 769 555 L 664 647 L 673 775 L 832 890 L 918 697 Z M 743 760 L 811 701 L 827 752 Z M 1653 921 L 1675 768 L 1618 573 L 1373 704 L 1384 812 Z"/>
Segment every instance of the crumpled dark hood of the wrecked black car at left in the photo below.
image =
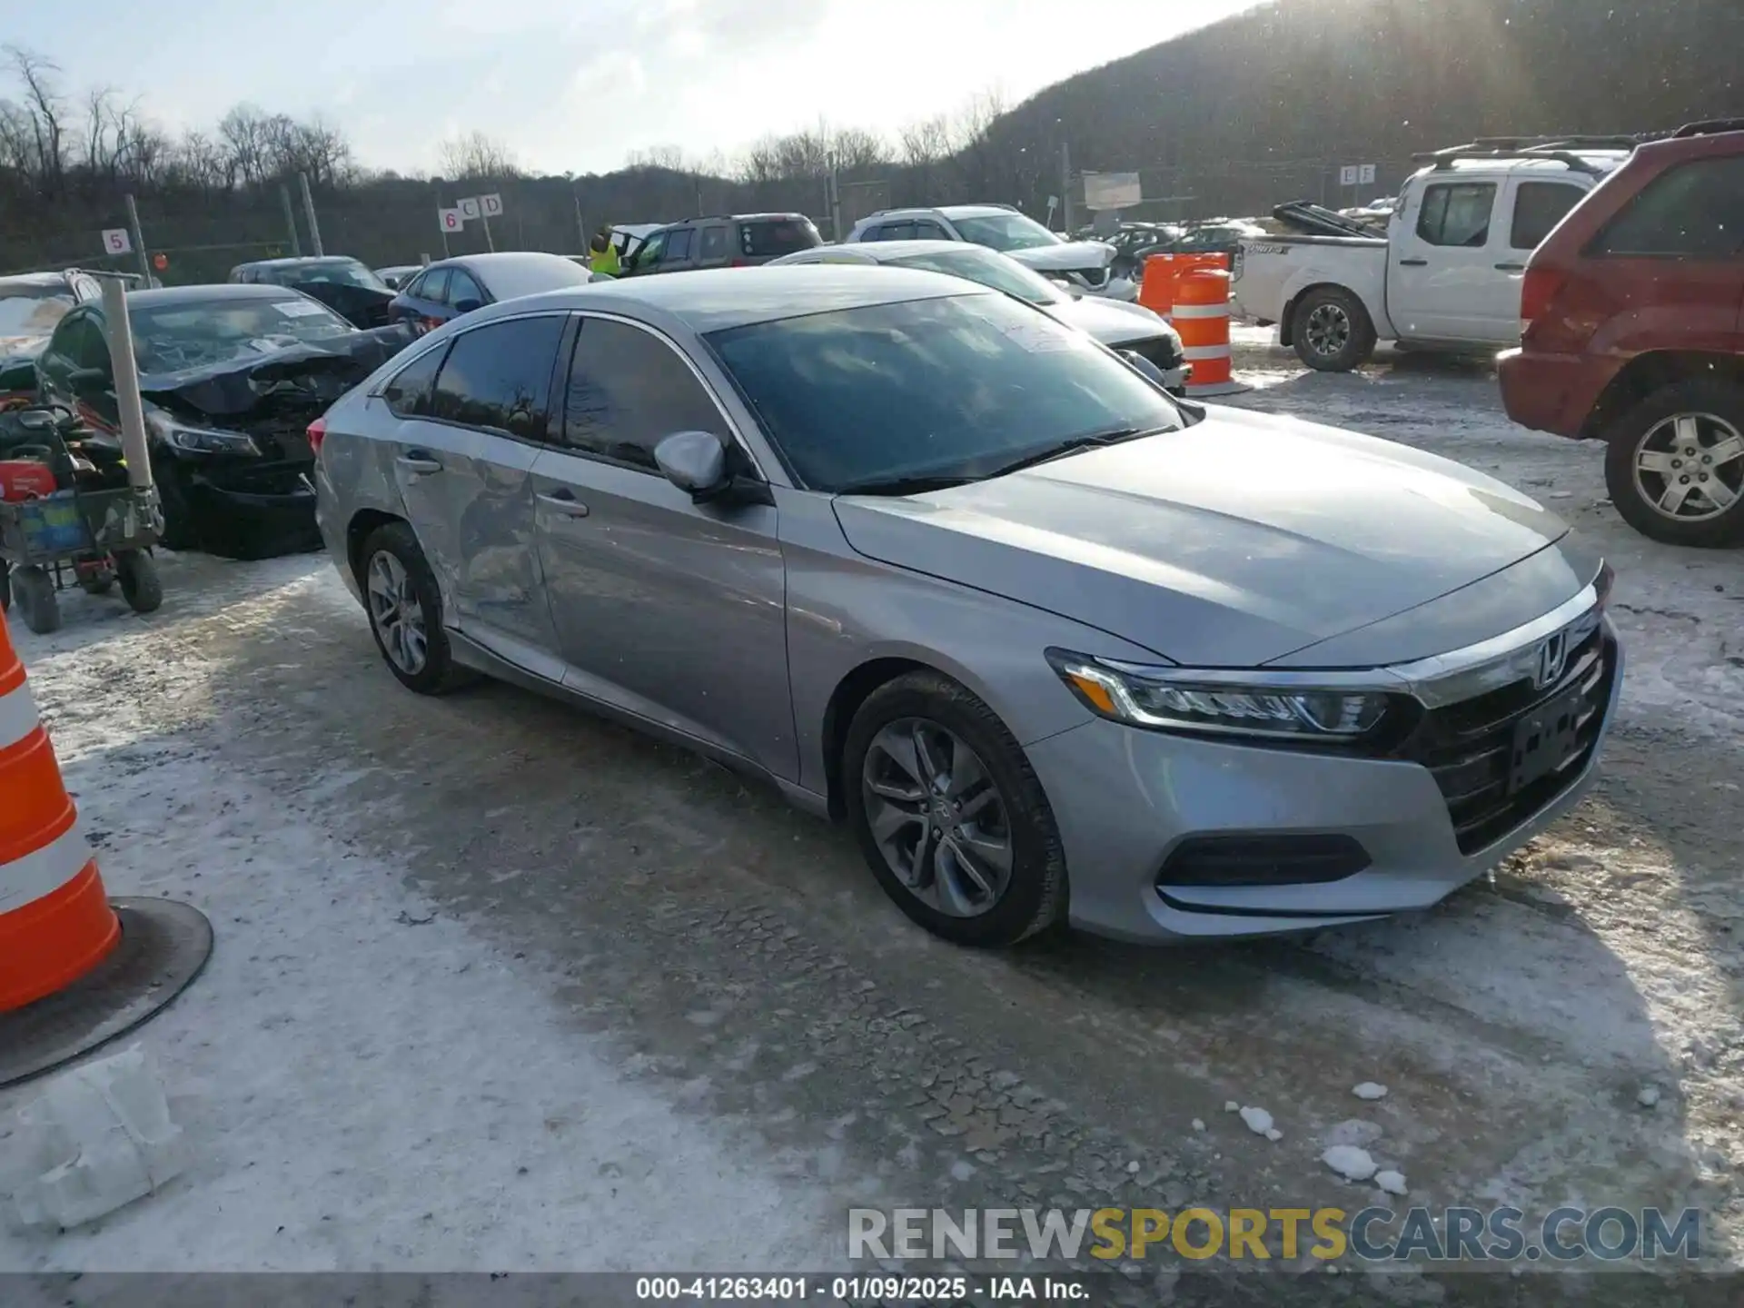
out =
<path fill-rule="evenodd" d="M 255 433 L 307 424 L 415 337 L 405 326 L 354 331 L 317 345 L 143 373 L 140 394 L 181 419 Z"/>

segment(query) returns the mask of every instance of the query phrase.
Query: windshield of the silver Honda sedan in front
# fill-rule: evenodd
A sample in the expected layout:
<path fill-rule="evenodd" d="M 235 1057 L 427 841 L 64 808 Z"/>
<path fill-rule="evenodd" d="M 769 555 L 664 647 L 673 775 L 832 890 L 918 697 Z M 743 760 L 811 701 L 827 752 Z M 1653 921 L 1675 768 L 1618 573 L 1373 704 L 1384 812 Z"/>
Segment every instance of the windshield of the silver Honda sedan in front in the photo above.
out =
<path fill-rule="evenodd" d="M 992 476 L 1073 441 L 1175 429 L 1168 398 L 1003 295 L 841 309 L 706 337 L 799 480 Z"/>

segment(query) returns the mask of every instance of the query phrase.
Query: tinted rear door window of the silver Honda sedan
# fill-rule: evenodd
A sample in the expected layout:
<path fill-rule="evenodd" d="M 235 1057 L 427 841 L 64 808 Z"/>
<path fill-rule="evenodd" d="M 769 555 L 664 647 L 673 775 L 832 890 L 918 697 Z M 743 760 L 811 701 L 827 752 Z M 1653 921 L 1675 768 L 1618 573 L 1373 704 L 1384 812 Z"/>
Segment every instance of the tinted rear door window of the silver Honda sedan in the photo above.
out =
<path fill-rule="evenodd" d="M 455 337 L 436 377 L 433 417 L 544 439 L 551 366 L 562 335 L 562 316 L 546 314 Z"/>

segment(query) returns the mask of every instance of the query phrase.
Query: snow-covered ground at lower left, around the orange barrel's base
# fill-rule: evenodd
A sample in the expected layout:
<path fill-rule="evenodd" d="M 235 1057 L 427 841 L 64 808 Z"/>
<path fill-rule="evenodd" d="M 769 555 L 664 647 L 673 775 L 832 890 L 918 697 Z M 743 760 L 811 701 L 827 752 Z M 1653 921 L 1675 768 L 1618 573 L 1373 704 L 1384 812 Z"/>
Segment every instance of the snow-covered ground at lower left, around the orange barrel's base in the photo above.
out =
<path fill-rule="evenodd" d="M 314 558 L 197 598 L 164 572 L 178 617 L 244 640 L 345 603 Z M 176 619 L 70 609 L 21 642 L 105 882 L 216 928 L 208 971 L 138 1032 L 195 1162 L 87 1230 L 0 1236 L 0 1271 L 633 1270 L 656 1235 L 661 1266 L 825 1266 L 821 1195 L 637 1085 L 403 867 L 331 835 L 352 774 L 286 795 L 225 767 L 206 717 L 225 664 Z M 0 1153 L 31 1093 L 0 1093 Z"/>

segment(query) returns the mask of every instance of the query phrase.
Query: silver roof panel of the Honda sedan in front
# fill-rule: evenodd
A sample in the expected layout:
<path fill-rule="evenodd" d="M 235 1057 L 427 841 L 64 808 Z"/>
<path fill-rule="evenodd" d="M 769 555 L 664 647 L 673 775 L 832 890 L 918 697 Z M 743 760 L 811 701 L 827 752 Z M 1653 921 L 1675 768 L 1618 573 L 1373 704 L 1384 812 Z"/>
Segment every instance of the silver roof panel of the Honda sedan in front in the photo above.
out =
<path fill-rule="evenodd" d="M 668 277 L 628 277 L 589 286 L 546 291 L 501 305 L 488 305 L 466 321 L 483 316 L 527 312 L 532 307 L 593 309 L 623 312 L 651 323 L 670 321 L 705 335 L 753 323 L 865 309 L 905 300 L 950 295 L 994 295 L 994 291 L 938 272 L 912 269 L 863 269 L 842 263 L 792 263 L 766 269 L 705 269 Z"/>

